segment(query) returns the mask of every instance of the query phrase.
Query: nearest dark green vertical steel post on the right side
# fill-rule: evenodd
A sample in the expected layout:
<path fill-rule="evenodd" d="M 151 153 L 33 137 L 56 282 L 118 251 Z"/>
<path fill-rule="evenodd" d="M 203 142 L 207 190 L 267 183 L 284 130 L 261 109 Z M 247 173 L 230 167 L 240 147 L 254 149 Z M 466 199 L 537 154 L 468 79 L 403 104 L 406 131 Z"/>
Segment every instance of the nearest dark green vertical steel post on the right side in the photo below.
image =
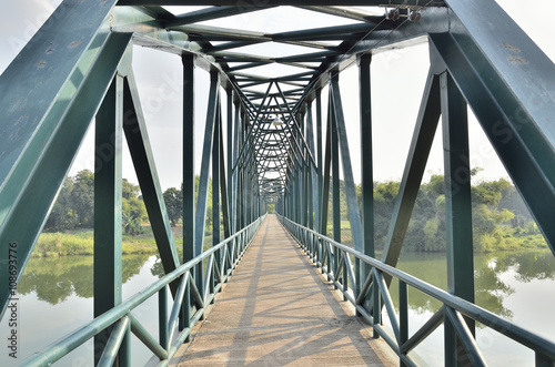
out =
<path fill-rule="evenodd" d="M 472 246 L 471 173 L 468 166 L 468 121 L 466 101 L 455 82 L 444 72 L 440 77 L 443 147 L 445 163 L 445 226 L 447 235 L 448 292 L 474 303 Z M 474 334 L 474 322 L 466 319 Z M 451 322 L 445 320 L 445 365 L 468 363 L 466 351 Z"/>

